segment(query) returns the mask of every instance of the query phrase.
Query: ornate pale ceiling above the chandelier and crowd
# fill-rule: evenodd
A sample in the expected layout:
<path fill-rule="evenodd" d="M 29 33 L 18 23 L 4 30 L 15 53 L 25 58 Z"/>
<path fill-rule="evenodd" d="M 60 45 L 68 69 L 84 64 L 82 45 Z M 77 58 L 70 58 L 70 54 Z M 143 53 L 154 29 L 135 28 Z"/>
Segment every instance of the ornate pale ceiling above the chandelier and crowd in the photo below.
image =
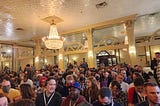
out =
<path fill-rule="evenodd" d="M 104 1 L 105 7 L 96 8 L 96 4 Z M 42 19 L 51 15 L 63 19 L 57 24 L 58 31 L 63 32 L 132 14 L 141 16 L 159 11 L 160 0 L 0 0 L 0 40 L 27 41 L 46 36 L 49 24 Z M 136 36 L 160 28 L 159 23 L 146 27 L 144 20 L 136 23 Z"/>

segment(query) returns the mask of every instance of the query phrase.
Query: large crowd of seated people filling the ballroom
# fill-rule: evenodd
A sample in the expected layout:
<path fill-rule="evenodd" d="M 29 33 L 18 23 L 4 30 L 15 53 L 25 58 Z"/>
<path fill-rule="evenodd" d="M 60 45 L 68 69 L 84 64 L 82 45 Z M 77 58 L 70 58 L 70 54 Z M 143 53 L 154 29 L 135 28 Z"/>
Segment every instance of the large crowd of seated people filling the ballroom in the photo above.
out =
<path fill-rule="evenodd" d="M 141 66 L 86 62 L 0 72 L 0 106 L 159 106 L 160 88 Z"/>

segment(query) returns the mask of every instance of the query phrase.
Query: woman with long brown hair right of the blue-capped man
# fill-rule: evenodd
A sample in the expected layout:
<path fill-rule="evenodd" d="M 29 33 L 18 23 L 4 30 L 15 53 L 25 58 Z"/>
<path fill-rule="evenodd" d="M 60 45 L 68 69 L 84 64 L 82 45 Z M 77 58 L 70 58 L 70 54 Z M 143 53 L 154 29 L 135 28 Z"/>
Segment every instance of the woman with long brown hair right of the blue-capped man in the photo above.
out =
<path fill-rule="evenodd" d="M 90 76 L 86 80 L 86 88 L 83 91 L 84 97 L 89 103 L 93 103 L 97 99 L 98 87 L 96 84 L 96 79 L 93 76 Z"/>

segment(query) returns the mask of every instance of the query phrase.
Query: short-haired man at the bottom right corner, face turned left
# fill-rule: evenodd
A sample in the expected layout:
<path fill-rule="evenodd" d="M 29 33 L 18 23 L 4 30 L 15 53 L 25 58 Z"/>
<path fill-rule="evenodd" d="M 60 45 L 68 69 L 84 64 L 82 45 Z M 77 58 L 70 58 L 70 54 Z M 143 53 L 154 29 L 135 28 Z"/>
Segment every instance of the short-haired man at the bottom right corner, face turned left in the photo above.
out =
<path fill-rule="evenodd" d="M 147 100 L 136 106 L 160 106 L 160 88 L 153 82 L 145 84 Z"/>

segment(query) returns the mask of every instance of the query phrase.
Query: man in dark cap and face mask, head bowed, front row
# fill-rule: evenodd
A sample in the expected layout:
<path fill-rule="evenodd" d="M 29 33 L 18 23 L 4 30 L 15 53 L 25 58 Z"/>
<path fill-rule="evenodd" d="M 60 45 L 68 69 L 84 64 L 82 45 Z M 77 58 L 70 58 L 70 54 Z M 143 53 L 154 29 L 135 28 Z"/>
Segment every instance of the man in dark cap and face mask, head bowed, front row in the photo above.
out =
<path fill-rule="evenodd" d="M 98 101 L 93 103 L 93 106 L 121 106 L 113 101 L 112 92 L 108 87 L 101 88 L 98 92 Z"/>

